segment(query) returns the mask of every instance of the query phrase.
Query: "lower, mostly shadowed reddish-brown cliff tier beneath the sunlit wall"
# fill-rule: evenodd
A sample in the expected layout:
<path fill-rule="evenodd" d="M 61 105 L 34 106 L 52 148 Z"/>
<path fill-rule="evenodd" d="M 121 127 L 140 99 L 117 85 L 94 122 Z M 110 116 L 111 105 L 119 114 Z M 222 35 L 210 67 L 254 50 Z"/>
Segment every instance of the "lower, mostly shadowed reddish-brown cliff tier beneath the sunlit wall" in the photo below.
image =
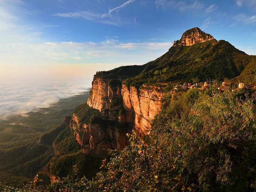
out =
<path fill-rule="evenodd" d="M 130 133 L 126 124 L 96 117 L 93 123 L 79 123 L 75 114 L 72 114 L 70 127 L 74 130 L 74 137 L 82 146 L 84 153 L 92 156 L 104 157 L 107 149 L 121 151 L 126 146 L 126 134 Z"/>

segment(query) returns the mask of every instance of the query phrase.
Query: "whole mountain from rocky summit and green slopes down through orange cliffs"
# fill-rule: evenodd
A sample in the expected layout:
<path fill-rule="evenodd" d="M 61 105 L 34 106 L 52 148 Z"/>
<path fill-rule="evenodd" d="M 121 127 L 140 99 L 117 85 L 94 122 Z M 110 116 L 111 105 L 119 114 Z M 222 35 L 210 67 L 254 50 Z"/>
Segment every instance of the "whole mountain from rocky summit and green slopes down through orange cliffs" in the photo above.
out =
<path fill-rule="evenodd" d="M 227 41 L 217 41 L 198 27 L 192 28 L 154 61 L 97 72 L 87 101 L 89 109 L 98 110 L 97 117 L 89 122 L 93 116 L 85 113 L 87 122 L 83 122 L 83 115 L 74 113 L 70 127 L 88 154 L 105 156 L 107 149 L 120 151 L 126 146 L 126 133 L 150 133 L 151 120 L 159 112 L 164 95 L 159 86 L 171 88 L 174 83 L 194 79 L 231 79 L 250 63 L 247 58 Z"/>

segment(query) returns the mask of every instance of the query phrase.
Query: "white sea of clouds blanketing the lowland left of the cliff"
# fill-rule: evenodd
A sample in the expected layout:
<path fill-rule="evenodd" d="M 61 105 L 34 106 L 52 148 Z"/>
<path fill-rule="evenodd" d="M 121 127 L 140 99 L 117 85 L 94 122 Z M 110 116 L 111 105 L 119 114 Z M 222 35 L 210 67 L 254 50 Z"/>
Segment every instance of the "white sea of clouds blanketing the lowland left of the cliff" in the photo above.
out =
<path fill-rule="evenodd" d="M 0 119 L 49 107 L 61 98 L 91 89 L 92 79 L 37 79 L 0 83 Z"/>

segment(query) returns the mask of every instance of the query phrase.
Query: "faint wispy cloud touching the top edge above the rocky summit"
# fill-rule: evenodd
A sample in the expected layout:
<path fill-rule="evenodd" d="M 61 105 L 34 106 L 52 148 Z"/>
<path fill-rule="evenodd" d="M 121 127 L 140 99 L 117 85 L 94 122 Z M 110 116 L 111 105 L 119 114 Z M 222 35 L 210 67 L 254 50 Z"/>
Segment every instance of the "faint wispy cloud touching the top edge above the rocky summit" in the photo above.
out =
<path fill-rule="evenodd" d="M 181 12 L 184 12 L 190 9 L 203 9 L 205 7 L 205 4 L 199 1 L 187 3 L 185 1 L 176 1 L 176 0 L 156 0 L 155 6 L 157 9 L 173 8 Z"/>

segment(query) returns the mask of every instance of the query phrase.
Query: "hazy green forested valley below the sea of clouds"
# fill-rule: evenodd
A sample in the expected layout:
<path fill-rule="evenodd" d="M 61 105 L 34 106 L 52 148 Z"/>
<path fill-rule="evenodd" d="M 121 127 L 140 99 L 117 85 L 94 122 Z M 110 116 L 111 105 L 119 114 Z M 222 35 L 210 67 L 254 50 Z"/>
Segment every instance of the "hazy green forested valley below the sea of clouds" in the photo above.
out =
<path fill-rule="evenodd" d="M 52 143 L 38 145 L 37 141 L 45 132 L 63 123 L 64 116 L 71 115 L 77 105 L 87 101 L 88 93 L 61 99 L 49 108 L 39 108 L 0 121 L 1 183 L 22 187 L 33 180 L 38 170 L 55 156 L 49 148 Z"/>

